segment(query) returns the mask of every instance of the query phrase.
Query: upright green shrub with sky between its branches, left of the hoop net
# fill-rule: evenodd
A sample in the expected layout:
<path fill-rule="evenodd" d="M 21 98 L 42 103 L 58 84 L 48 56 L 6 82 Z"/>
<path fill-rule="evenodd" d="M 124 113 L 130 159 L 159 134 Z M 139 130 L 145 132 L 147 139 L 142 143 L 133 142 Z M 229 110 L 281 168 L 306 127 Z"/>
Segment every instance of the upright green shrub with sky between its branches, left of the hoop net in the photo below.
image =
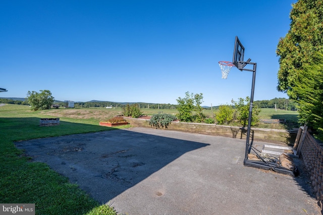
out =
<path fill-rule="evenodd" d="M 193 122 L 194 119 L 196 121 L 201 122 L 205 119 L 204 114 L 202 113 L 202 107 L 200 104 L 203 102 L 203 94 L 193 94 L 186 92 L 185 98 L 179 97 L 176 99 L 178 105 L 176 109 L 178 110 L 178 119 L 184 122 Z M 196 115 L 193 115 L 193 111 L 196 111 Z"/>

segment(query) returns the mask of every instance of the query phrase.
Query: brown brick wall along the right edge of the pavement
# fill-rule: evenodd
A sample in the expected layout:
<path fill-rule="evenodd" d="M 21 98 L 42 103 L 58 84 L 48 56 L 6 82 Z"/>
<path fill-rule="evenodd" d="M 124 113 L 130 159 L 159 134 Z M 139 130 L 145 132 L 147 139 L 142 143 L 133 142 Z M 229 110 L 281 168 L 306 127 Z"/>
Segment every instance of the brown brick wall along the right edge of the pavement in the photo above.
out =
<path fill-rule="evenodd" d="M 322 144 L 306 132 L 301 155 L 307 171 L 311 175 L 312 187 L 319 206 L 323 204 L 323 148 Z"/>

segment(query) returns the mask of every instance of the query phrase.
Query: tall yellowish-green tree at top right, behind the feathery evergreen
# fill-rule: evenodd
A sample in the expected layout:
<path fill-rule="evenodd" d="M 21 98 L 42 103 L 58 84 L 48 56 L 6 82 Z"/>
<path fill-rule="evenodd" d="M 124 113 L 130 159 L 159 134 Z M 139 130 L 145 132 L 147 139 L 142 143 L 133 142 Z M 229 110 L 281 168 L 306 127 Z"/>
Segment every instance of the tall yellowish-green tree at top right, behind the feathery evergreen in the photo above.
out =
<path fill-rule="evenodd" d="M 280 68 L 278 90 L 297 99 L 294 87 L 303 68 L 312 62 L 314 53 L 323 47 L 323 1 L 298 0 L 292 5 L 290 30 L 277 46 Z"/>

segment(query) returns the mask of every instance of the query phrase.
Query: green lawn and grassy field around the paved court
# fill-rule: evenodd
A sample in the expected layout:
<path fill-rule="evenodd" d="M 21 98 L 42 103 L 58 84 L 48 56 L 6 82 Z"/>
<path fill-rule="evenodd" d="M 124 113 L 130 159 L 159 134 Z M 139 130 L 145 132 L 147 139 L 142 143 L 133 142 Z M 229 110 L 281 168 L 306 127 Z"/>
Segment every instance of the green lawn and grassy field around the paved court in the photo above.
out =
<path fill-rule="evenodd" d="M 145 115 L 163 111 L 176 114 L 174 109 L 141 109 Z M 36 214 L 116 214 L 109 205 L 100 205 L 76 184 L 52 171 L 46 164 L 30 162 L 29 157 L 14 146 L 15 141 L 97 132 L 118 128 L 102 127 L 101 120 L 121 115 L 122 109 L 83 108 L 30 111 L 28 106 L 0 107 L 0 199 L 2 203 L 35 203 Z M 208 117 L 214 111 L 204 110 Z M 40 127 L 40 118 L 60 117 L 60 126 Z M 285 118 L 296 123 L 297 112 L 262 109 L 260 118 Z M 275 124 L 275 126 L 278 126 Z M 129 127 L 122 126 L 122 127 Z M 283 127 L 284 128 L 284 127 Z"/>

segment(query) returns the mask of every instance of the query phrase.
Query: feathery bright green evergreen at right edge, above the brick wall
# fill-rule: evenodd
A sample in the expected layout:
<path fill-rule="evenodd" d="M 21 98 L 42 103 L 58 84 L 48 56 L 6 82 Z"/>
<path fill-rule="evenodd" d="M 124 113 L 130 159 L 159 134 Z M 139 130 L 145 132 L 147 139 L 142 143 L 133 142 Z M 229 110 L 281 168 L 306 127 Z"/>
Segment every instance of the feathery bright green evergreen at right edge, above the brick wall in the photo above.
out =
<path fill-rule="evenodd" d="M 299 101 L 299 121 L 315 129 L 323 140 L 323 53 L 316 54 L 314 63 L 299 74 L 294 91 Z"/>

